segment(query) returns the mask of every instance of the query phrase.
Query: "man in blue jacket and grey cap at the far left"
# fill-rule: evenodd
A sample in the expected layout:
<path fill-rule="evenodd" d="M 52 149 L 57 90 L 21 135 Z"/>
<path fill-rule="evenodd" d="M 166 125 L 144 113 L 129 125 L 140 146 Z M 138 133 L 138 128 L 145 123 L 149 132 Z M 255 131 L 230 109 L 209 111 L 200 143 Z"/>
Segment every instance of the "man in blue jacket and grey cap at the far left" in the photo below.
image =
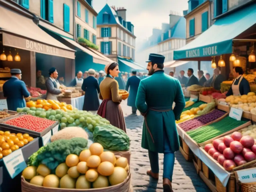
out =
<path fill-rule="evenodd" d="M 11 69 L 10 72 L 12 77 L 4 83 L 3 93 L 7 100 L 8 110 L 16 111 L 17 108 L 26 106 L 24 98 L 29 100 L 30 93 L 24 81 L 21 81 L 21 70 Z"/>

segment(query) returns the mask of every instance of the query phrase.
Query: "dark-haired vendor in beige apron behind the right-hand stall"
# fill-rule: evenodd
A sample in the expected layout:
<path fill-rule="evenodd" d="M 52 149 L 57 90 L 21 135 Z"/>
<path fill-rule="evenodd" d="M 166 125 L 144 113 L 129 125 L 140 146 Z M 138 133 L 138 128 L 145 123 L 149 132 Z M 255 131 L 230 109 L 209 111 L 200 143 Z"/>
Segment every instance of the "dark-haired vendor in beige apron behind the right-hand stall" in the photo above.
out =
<path fill-rule="evenodd" d="M 228 90 L 226 96 L 247 95 L 247 93 L 251 92 L 249 82 L 245 78 L 243 78 L 242 75 L 243 75 L 242 67 L 233 68 L 234 81 L 232 82 L 232 85 Z"/>

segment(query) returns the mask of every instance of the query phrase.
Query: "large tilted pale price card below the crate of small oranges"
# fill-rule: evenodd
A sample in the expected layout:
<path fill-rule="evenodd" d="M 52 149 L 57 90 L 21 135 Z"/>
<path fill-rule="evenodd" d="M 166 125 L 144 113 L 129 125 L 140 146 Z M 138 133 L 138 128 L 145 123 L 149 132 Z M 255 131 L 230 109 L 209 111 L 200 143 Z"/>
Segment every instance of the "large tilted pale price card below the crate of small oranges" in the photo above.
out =
<path fill-rule="evenodd" d="M 21 149 L 18 149 L 4 157 L 3 161 L 12 179 L 27 167 Z"/>

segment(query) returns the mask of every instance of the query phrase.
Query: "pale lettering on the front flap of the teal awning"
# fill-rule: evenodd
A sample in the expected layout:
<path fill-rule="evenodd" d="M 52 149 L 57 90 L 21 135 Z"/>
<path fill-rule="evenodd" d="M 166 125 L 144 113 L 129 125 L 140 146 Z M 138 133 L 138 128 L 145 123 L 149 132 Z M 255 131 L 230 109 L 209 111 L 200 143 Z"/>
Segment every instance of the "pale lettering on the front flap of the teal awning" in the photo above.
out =
<path fill-rule="evenodd" d="M 217 45 L 186 51 L 186 58 L 207 57 L 207 56 L 212 56 L 212 55 L 218 55 Z"/>

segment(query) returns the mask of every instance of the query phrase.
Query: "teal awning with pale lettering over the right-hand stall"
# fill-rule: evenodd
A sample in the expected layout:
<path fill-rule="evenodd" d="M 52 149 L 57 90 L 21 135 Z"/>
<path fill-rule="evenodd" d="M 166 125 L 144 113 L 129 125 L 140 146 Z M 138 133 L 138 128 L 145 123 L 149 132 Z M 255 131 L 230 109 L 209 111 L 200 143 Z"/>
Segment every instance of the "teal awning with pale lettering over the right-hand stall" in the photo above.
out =
<path fill-rule="evenodd" d="M 217 19 L 192 42 L 174 51 L 173 60 L 232 53 L 232 40 L 256 23 L 256 4 Z"/>

